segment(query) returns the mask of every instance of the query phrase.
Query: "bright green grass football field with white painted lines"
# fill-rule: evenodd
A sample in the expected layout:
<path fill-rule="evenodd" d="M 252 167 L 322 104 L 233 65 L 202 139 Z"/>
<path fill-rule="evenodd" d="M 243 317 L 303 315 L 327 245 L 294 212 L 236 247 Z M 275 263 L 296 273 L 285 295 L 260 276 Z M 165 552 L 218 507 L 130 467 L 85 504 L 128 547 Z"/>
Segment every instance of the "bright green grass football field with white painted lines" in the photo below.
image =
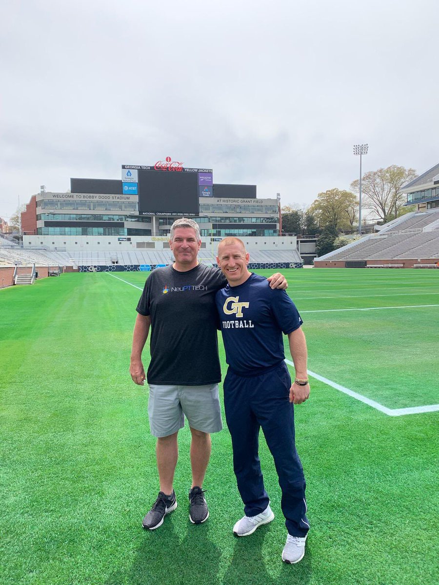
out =
<path fill-rule="evenodd" d="M 391 410 L 439 404 L 439 271 L 283 273 L 313 373 Z M 242 504 L 225 428 L 204 484 L 210 518 L 190 524 L 186 426 L 179 507 L 142 530 L 158 491 L 148 389 L 128 374 L 144 280 L 65 274 L 0 290 L 0 584 L 435 585 L 439 411 L 389 416 L 315 378 L 296 407 L 311 523 L 299 565 L 280 560 L 286 529 L 262 435 L 275 521 L 232 536 Z"/>

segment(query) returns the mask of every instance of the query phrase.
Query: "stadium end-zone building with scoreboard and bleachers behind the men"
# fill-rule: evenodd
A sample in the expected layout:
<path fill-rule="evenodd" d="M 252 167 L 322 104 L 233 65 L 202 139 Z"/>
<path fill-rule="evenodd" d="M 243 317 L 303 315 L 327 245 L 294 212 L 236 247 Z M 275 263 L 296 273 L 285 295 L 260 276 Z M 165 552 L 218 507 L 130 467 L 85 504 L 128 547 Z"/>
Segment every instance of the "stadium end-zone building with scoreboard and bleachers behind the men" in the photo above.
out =
<path fill-rule="evenodd" d="M 172 262 L 170 226 L 182 215 L 200 225 L 205 264 L 215 264 L 221 238 L 236 235 L 251 251 L 252 269 L 303 265 L 296 236 L 280 236 L 279 197 L 257 198 L 256 185 L 215 184 L 212 169 L 186 168 L 166 157 L 142 168 L 123 165 L 122 180 L 71 178 L 70 185 L 65 193 L 43 186 L 30 198 L 21 247 L 0 238 L 0 262 L 18 266 L 12 276 L 2 272 L 4 285 L 17 277 L 32 280 L 35 271 L 41 277 L 43 267 L 88 272 L 164 266 Z M 306 241 L 301 250 L 310 256 Z"/>

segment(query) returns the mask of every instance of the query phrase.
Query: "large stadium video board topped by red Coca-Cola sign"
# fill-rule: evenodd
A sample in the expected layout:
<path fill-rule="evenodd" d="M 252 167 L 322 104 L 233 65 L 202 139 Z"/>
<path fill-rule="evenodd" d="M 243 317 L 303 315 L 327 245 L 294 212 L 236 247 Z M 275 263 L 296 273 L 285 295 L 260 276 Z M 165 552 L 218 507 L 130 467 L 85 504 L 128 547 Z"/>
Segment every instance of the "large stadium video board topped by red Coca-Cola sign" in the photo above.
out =
<path fill-rule="evenodd" d="M 122 165 L 122 193 L 138 195 L 139 215 L 198 215 L 198 198 L 212 185 L 211 168 L 183 167 L 170 157 L 152 166 Z"/>

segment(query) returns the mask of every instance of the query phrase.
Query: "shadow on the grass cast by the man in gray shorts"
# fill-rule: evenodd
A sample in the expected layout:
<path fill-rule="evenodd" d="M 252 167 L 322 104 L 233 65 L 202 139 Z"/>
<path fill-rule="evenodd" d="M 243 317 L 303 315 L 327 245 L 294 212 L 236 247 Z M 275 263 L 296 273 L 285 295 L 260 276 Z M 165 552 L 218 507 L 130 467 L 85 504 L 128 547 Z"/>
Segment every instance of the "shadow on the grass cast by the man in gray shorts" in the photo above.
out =
<path fill-rule="evenodd" d="M 105 585 L 219 585 L 221 550 L 208 538 L 209 526 L 187 525 L 180 541 L 174 526 L 145 531 L 132 566 L 109 577 Z"/>

